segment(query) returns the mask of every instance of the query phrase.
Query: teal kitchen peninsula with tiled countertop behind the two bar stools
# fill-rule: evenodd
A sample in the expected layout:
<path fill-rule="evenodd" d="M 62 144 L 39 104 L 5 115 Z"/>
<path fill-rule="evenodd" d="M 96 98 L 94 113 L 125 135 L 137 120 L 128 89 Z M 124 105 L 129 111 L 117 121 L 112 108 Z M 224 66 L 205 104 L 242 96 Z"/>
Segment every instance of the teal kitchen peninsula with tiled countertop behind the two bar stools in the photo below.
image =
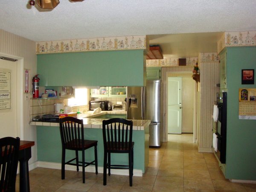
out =
<path fill-rule="evenodd" d="M 104 112 L 105 113 L 105 112 Z M 99 115 L 99 114 L 98 114 Z M 98 141 L 98 169 L 103 172 L 103 138 L 102 138 L 102 120 L 94 118 L 81 118 L 84 122 L 84 139 Z M 133 121 L 133 141 L 134 141 L 134 176 L 142 176 L 145 167 L 148 166 L 149 157 L 149 124 L 150 120 L 132 120 Z M 54 122 L 31 122 L 30 125 L 37 125 L 37 151 L 38 166 L 46 168 L 61 168 L 61 137 L 58 123 Z M 66 152 L 66 160 L 74 158 L 73 151 Z M 94 149 L 85 151 L 85 161 L 92 161 L 94 158 Z M 81 159 L 79 155 L 79 159 Z M 111 154 L 111 163 L 127 164 L 127 154 Z M 66 170 L 76 170 L 76 166 L 66 166 Z M 94 166 L 85 168 L 87 172 L 95 172 Z M 128 170 L 113 169 L 111 173 L 117 175 L 128 175 Z"/>

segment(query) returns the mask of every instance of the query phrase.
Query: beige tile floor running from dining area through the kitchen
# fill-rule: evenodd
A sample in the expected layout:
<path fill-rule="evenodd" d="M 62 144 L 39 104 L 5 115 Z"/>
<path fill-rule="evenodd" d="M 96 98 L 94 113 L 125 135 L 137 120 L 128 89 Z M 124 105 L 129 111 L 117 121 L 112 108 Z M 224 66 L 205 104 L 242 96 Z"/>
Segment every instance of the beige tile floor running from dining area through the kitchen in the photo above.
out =
<path fill-rule="evenodd" d="M 143 177 L 111 175 L 103 186 L 103 175 L 66 171 L 61 180 L 58 169 L 36 168 L 29 172 L 31 192 L 256 192 L 256 184 L 226 180 L 211 153 L 198 153 L 192 134 L 170 134 L 161 148 L 150 148 L 149 165 Z M 17 176 L 17 191 L 19 186 Z"/>

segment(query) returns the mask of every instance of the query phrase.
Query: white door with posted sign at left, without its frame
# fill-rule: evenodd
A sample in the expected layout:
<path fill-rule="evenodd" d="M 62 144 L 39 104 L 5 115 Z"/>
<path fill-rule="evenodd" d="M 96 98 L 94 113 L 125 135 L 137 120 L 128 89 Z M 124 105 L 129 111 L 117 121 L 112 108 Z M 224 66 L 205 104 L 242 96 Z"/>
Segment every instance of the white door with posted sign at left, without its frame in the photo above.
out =
<path fill-rule="evenodd" d="M 0 59 L 0 94 L 0 138 L 17 137 L 17 61 Z"/>

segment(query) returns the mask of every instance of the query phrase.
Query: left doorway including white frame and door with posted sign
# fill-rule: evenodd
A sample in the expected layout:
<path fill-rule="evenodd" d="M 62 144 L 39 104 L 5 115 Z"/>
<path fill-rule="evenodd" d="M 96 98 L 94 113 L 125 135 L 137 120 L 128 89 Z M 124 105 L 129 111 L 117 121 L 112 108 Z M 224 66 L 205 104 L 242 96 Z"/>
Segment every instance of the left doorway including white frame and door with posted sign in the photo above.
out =
<path fill-rule="evenodd" d="M 23 58 L 0 53 L 0 137 L 23 139 Z"/>

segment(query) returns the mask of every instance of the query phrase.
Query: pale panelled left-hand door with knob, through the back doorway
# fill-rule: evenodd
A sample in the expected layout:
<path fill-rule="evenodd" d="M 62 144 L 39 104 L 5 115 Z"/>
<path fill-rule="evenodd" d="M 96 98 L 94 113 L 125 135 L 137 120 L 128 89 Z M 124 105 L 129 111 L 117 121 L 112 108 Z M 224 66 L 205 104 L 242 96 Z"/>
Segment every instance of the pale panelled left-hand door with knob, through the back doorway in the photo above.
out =
<path fill-rule="evenodd" d="M 182 78 L 168 77 L 168 133 L 181 134 Z"/>

